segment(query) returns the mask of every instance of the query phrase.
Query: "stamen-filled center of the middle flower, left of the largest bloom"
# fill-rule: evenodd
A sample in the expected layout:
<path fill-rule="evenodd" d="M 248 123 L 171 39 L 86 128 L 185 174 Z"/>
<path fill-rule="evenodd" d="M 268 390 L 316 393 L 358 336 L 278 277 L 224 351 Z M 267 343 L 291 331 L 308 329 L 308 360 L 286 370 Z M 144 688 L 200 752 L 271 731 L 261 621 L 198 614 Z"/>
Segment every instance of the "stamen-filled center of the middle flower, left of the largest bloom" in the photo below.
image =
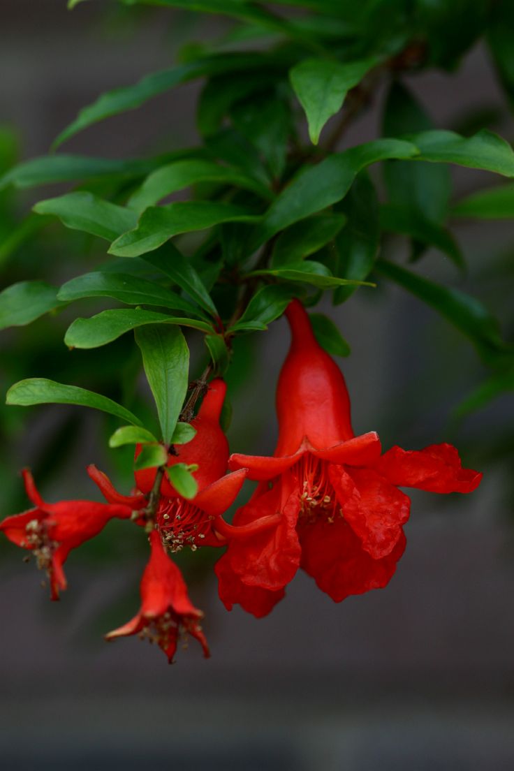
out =
<path fill-rule="evenodd" d="M 183 498 L 161 498 L 157 524 L 163 545 L 170 552 L 189 546 L 196 551 L 210 532 L 213 517 Z"/>

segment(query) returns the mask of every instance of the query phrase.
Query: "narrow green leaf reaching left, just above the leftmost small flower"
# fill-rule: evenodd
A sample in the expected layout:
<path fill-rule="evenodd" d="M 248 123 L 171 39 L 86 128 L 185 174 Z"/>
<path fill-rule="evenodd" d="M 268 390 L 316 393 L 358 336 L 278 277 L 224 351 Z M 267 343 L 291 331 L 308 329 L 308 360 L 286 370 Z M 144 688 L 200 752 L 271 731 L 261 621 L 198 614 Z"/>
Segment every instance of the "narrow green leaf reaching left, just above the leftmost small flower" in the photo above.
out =
<path fill-rule="evenodd" d="M 134 426 L 143 425 L 132 412 L 106 396 L 86 391 L 76 385 L 63 385 L 45 378 L 29 378 L 15 383 L 8 389 L 5 403 L 22 407 L 34 404 L 76 404 L 109 412 L 109 415 L 114 415 L 127 423 L 133 423 Z"/>

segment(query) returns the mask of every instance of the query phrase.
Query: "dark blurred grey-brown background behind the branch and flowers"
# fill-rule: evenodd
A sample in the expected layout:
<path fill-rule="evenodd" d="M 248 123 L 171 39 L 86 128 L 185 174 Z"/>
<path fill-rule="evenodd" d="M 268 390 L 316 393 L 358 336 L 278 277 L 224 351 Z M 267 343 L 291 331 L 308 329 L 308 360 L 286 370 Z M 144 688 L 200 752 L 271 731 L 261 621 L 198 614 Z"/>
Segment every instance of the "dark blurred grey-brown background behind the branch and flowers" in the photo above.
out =
<path fill-rule="evenodd" d="M 170 66 L 184 42 L 223 29 L 217 19 L 199 22 L 183 12 L 103 2 L 66 12 L 65 5 L 0 2 L 5 166 L 46 153 L 100 92 Z M 512 140 L 514 126 L 485 50 L 472 50 L 458 72 L 408 82 L 437 127 L 466 132 L 478 121 Z M 190 146 L 197 140 L 198 89 L 183 86 L 100 123 L 62 151 L 123 157 Z M 377 136 L 383 96 L 345 144 Z M 452 173 L 458 195 L 493 181 L 483 172 Z M 42 197 L 44 190 L 3 197 L 5 230 L 9 217 L 17 221 Z M 514 270 L 504 269 L 499 280 L 496 268 L 512 265 L 512 223 L 459 224 L 455 232 L 469 275 L 459 276 L 435 252 L 425 257 L 423 274 L 475 292 L 508 335 L 512 282 L 506 276 Z M 32 278 L 66 281 L 101 261 L 102 248 L 57 225 L 47 228 L 0 264 L 0 288 Z M 405 244 L 391 241 L 388 250 L 403 253 Z M 84 301 L 85 315 L 92 307 Z M 479 490 L 466 497 L 413 495 L 408 549 L 391 584 L 341 605 L 299 574 L 270 617 L 256 621 L 238 609 L 228 614 L 217 600 L 210 556 L 200 574 L 185 564 L 193 601 L 206 611 L 213 657 L 203 661 L 192 644 L 171 668 L 160 651 L 136 638 L 102 641 L 103 632 L 139 605 L 146 547 L 136 528 L 127 533 L 113 523 L 94 546 L 72 554 L 70 588 L 56 604 L 39 588 L 34 567 L 2 541 L 2 771 L 143 764 L 177 771 L 514 768 L 512 399 L 456 421 L 455 406 L 485 370 L 465 338 L 399 289 L 361 290 L 324 310 L 351 344 L 341 365 L 354 397 L 356 432 L 376 429 L 386 447 L 452 441 L 466 466 L 485 472 Z M 129 339 L 102 349 L 97 359 L 99 352 L 68 352 L 61 342 L 65 329 L 66 311 L 2 333 L 2 393 L 37 375 L 86 387 L 94 382 L 108 393 L 115 375 L 133 366 Z M 273 385 L 286 351 L 284 322 L 241 346 L 230 376 L 232 449 L 272 451 Z M 26 505 L 17 475 L 25 465 L 49 500 L 92 497 L 83 468 L 93 461 L 129 489 L 129 457 L 106 449 L 116 424 L 63 406 L 0 409 L 2 517 Z"/>

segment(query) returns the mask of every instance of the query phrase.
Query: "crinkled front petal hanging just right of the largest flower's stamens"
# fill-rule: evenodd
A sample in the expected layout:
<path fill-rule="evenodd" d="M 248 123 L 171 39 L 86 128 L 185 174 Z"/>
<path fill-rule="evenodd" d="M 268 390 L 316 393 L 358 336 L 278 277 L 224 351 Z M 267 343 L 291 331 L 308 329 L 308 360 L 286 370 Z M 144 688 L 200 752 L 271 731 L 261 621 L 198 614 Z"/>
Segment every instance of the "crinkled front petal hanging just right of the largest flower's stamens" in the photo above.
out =
<path fill-rule="evenodd" d="M 375 560 L 386 557 L 401 537 L 410 499 L 372 469 L 329 466 L 344 520 Z"/>

